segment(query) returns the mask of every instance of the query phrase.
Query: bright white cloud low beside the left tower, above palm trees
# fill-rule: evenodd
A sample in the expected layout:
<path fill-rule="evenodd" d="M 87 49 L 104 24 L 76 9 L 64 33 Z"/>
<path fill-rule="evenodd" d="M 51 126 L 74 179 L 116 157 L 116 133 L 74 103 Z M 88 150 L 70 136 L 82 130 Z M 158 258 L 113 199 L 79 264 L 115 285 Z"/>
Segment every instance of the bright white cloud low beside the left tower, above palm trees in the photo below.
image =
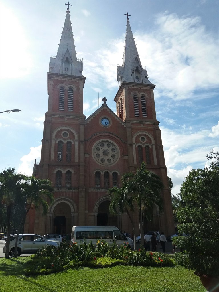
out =
<path fill-rule="evenodd" d="M 27 155 L 21 157 L 22 163 L 18 167 L 18 172 L 22 172 L 25 175 L 32 175 L 34 161 L 38 162 L 41 157 L 41 145 L 38 147 L 30 147 L 30 152 Z"/>

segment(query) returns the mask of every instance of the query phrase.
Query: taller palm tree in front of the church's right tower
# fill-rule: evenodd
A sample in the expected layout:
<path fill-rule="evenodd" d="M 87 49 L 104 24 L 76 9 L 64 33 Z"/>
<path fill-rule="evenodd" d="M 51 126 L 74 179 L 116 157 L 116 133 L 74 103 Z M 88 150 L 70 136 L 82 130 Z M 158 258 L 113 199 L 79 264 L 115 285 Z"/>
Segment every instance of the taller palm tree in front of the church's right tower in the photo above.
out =
<path fill-rule="evenodd" d="M 124 173 L 121 180 L 126 184 L 126 191 L 131 193 L 137 202 L 141 242 L 144 242 L 144 220 L 142 218 L 150 219 L 154 204 L 157 204 L 161 209 L 162 199 L 160 193 L 164 185 L 158 175 L 146 168 L 144 161 L 135 173 Z"/>

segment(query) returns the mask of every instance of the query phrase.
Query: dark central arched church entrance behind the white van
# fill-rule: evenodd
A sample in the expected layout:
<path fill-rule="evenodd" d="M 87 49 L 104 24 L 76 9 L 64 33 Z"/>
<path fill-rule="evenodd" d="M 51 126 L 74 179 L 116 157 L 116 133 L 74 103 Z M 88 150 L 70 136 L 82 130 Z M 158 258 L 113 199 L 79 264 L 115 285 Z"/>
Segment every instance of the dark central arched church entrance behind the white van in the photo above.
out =
<path fill-rule="evenodd" d="M 97 214 L 97 225 L 117 226 L 117 216 L 109 213 L 110 201 L 106 200 L 100 203 Z"/>

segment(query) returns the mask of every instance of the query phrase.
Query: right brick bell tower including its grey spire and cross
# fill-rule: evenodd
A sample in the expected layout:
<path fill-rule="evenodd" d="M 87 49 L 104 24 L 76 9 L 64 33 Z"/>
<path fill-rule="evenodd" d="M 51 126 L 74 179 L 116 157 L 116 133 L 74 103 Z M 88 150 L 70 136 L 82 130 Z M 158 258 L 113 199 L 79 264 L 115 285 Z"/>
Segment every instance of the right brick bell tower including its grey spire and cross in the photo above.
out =
<path fill-rule="evenodd" d="M 141 65 L 128 18 L 130 15 L 128 12 L 125 15 L 127 26 L 123 63 L 117 66 L 119 89 L 114 98 L 117 116 L 126 124 L 129 171 L 135 171 L 145 161 L 147 168 L 159 175 L 164 184 L 164 208 L 159 224 L 162 230 L 171 233 L 174 229 L 173 212 L 161 131 L 156 118 L 155 85 L 148 80 L 147 70 Z M 150 230 L 150 225 L 146 226 Z"/>

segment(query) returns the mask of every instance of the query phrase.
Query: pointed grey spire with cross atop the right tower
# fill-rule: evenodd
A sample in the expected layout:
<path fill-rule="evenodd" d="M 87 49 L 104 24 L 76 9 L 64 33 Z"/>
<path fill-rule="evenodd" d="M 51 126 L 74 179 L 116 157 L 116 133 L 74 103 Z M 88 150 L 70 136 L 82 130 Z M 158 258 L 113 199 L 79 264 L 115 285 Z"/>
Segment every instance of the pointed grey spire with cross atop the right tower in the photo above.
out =
<path fill-rule="evenodd" d="M 146 69 L 143 69 L 141 65 L 128 18 L 131 15 L 128 12 L 125 15 L 127 16 L 127 26 L 123 64 L 117 66 L 117 81 L 119 81 L 119 85 L 122 81 L 152 84 L 148 81 Z"/>

